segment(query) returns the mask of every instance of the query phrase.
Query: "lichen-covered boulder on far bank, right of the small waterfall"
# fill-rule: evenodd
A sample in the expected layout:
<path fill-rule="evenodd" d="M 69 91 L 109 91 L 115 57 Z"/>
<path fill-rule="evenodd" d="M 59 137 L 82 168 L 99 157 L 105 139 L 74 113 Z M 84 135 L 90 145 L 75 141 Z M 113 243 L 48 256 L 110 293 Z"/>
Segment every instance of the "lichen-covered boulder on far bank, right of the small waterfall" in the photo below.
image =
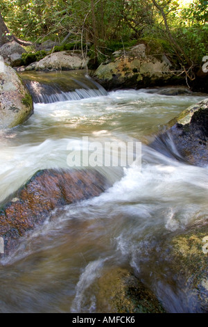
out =
<path fill-rule="evenodd" d="M 113 55 L 110 62 L 102 63 L 94 73 L 94 78 L 107 90 L 160 86 L 175 79 L 168 58 L 165 55 L 161 58 L 146 55 L 143 44 L 116 51 Z"/>

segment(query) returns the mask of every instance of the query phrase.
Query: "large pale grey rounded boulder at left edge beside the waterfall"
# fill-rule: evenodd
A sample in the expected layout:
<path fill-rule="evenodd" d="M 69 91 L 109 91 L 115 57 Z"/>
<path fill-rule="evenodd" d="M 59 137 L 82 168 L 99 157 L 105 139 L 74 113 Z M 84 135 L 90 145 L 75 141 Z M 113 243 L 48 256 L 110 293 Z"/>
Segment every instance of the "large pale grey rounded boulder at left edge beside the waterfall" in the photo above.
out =
<path fill-rule="evenodd" d="M 33 100 L 21 78 L 1 61 L 0 70 L 0 129 L 15 127 L 33 113 Z"/>

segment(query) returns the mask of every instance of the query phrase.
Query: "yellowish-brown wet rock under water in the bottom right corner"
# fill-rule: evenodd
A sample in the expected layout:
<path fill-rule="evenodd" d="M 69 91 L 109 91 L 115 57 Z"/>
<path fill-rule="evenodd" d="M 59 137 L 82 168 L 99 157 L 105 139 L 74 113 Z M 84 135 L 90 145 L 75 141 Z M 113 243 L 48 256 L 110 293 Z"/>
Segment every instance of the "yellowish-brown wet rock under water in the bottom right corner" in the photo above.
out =
<path fill-rule="evenodd" d="M 187 312 L 208 312 L 208 221 L 173 234 L 163 244 L 159 260 L 184 294 Z M 166 269 L 166 274 L 168 274 Z"/>

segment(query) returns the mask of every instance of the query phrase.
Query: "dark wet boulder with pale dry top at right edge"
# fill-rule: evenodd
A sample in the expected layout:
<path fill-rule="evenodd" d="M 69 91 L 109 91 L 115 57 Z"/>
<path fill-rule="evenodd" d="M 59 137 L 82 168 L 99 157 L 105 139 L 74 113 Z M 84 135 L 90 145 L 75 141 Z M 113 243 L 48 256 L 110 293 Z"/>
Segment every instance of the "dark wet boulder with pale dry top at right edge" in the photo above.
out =
<path fill-rule="evenodd" d="M 167 149 L 171 151 L 170 140 L 179 159 L 196 166 L 207 166 L 208 99 L 193 104 L 171 120 L 151 146 L 165 153 Z"/>

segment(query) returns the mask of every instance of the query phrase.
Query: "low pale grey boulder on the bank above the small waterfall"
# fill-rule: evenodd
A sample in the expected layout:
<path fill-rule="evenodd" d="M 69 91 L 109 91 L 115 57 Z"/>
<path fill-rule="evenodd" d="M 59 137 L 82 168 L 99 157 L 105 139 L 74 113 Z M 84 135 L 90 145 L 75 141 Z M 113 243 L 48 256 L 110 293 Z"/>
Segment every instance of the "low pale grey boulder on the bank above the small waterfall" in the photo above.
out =
<path fill-rule="evenodd" d="M 26 70 L 80 70 L 87 67 L 88 60 L 80 51 L 60 51 L 28 65 Z"/>

